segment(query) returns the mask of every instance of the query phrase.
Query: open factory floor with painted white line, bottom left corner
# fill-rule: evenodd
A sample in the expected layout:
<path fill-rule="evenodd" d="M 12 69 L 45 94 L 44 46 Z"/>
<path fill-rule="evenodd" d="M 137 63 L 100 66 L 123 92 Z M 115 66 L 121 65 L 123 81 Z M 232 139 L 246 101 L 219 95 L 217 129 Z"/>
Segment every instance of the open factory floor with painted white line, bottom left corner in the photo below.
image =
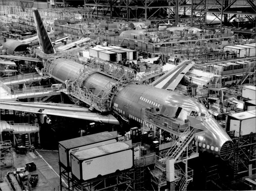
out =
<path fill-rule="evenodd" d="M 25 163 L 34 162 L 36 171 L 29 172 L 28 179 L 32 174 L 38 174 L 38 182 L 32 190 L 60 190 L 58 151 L 36 150 L 26 154 L 18 154 L 13 151 L 13 160 L 14 168 L 1 169 L 1 179 L 4 180 L 4 175 L 7 172 L 15 171 L 16 168 L 26 167 Z M 5 182 L 2 185 L 0 184 L 0 187 L 4 186 L 4 184 Z"/>

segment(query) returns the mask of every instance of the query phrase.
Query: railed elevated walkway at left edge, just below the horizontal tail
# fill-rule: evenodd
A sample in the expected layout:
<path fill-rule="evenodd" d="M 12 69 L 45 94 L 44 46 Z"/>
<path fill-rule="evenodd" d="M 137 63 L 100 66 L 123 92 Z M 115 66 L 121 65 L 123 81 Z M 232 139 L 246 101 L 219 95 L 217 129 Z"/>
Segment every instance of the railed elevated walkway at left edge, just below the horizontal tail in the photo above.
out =
<path fill-rule="evenodd" d="M 42 76 L 40 76 L 39 74 L 30 73 L 30 74 L 20 74 L 17 76 L 0 78 L 0 81 L 7 86 L 11 86 L 11 85 L 24 84 L 28 82 L 30 83 L 38 82 L 38 81 L 41 81 L 41 79 L 42 79 Z"/>

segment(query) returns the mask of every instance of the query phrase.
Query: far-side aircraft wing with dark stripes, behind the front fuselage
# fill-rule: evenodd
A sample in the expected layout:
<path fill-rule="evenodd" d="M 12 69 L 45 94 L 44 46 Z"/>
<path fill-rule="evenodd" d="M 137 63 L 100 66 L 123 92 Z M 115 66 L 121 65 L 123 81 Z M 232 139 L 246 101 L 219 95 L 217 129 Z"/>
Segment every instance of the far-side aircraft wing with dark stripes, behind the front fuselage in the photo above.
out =
<path fill-rule="evenodd" d="M 195 64 L 193 61 L 183 61 L 176 68 L 173 68 L 160 78 L 156 79 L 151 84 L 157 88 L 165 90 L 175 90 L 180 80 L 188 72 L 188 70 Z"/>

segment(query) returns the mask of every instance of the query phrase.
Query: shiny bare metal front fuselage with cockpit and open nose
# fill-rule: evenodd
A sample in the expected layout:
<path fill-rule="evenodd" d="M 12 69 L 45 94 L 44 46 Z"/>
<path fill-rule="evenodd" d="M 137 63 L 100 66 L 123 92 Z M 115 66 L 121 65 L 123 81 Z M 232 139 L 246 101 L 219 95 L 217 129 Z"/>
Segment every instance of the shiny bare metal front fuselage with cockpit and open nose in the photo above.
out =
<path fill-rule="evenodd" d="M 232 140 L 216 120 L 210 116 L 206 107 L 195 99 L 155 87 L 128 84 L 116 91 L 112 101 L 112 108 L 116 113 L 127 121 L 133 120 L 138 123 L 142 123 L 142 108 L 158 105 L 162 106 L 160 114 L 165 117 L 174 117 L 178 107 L 181 107 L 177 120 L 183 122 L 192 111 L 199 115 L 201 113 L 206 114 L 204 117 L 193 116 L 205 125 L 205 134 L 197 137 L 201 150 L 220 155 L 224 160 L 230 157 L 233 151 Z M 229 147 L 228 152 L 225 152 L 227 147 Z"/>

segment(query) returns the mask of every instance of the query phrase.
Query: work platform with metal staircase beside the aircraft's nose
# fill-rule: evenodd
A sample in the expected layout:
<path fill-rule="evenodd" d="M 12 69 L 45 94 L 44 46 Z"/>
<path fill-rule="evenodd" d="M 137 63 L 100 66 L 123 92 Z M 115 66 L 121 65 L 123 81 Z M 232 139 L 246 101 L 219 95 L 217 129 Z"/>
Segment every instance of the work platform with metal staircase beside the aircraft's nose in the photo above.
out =
<path fill-rule="evenodd" d="M 159 156 L 155 155 L 156 168 L 150 171 L 151 182 L 159 190 L 161 187 L 168 188 L 168 182 L 173 183 L 171 190 L 186 190 L 188 183 L 193 180 L 193 170 L 188 167 L 188 160 L 199 156 L 197 136 L 205 133 L 204 125 L 191 127 L 189 122 L 158 115 L 156 107 L 142 109 L 141 119 L 143 119 L 143 129 L 145 126 L 154 131 L 158 128 L 160 137 L 164 131 L 167 131 L 175 138 L 170 142 L 171 147 L 166 149 L 162 147 L 163 150 L 159 150 Z M 159 149 L 164 144 L 161 144 L 160 139 Z M 145 160 L 146 156 L 140 158 Z M 137 158 L 137 160 L 140 159 Z"/>

